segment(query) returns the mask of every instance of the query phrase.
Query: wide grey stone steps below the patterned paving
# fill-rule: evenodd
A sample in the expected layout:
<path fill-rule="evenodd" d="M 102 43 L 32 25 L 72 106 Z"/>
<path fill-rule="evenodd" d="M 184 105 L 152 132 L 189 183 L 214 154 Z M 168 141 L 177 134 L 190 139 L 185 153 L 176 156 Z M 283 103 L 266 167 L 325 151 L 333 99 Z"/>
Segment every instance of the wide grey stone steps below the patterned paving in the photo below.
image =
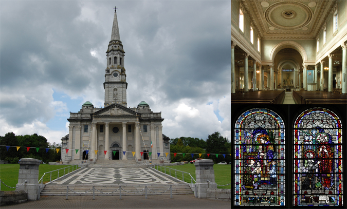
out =
<path fill-rule="evenodd" d="M 119 196 L 119 186 L 125 191 L 121 191 L 122 195 L 145 195 L 145 185 L 147 186 L 147 195 L 170 195 L 170 185 L 172 186 L 172 195 L 193 195 L 194 192 L 187 183 L 179 184 L 107 184 L 107 185 L 95 185 L 95 196 Z M 69 185 L 69 189 L 74 192 L 86 192 L 93 187 L 92 184 L 72 184 Z M 54 185 L 47 184 L 41 192 L 41 196 L 66 196 L 66 185 Z M 113 194 L 102 194 L 98 192 L 110 193 L 118 189 Z M 152 191 L 150 191 L 150 189 Z M 168 190 L 167 190 L 168 189 Z M 166 191 L 167 190 L 167 191 Z M 166 191 L 165 193 L 161 193 Z M 93 196 L 93 190 L 85 194 L 75 194 L 69 191 L 68 196 Z M 160 194 L 158 194 L 160 192 Z M 134 193 L 134 194 L 133 194 Z"/>

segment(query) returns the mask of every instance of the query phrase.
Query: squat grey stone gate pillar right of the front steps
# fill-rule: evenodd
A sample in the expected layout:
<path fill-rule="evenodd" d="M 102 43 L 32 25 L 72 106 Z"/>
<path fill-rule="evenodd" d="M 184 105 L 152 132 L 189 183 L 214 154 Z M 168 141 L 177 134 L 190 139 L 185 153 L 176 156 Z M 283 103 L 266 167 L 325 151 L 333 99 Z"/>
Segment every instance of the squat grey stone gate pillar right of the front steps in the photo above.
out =
<path fill-rule="evenodd" d="M 213 164 L 214 162 L 212 160 L 198 160 L 194 163 L 196 177 L 195 186 L 197 187 L 196 191 L 198 198 L 207 198 L 207 189 L 217 188 L 216 184 L 210 183 L 215 183 Z"/>

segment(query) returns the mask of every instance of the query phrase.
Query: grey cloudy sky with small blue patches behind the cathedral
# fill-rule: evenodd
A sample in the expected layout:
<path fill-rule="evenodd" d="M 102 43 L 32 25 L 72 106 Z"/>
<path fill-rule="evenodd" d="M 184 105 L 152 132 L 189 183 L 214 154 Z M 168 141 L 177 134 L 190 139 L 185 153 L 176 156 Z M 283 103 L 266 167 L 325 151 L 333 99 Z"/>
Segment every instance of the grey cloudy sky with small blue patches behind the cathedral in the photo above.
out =
<path fill-rule="evenodd" d="M 0 1 L 0 136 L 60 143 L 69 111 L 104 103 L 114 9 L 127 104 L 162 112 L 163 134 L 230 140 L 230 1 Z"/>

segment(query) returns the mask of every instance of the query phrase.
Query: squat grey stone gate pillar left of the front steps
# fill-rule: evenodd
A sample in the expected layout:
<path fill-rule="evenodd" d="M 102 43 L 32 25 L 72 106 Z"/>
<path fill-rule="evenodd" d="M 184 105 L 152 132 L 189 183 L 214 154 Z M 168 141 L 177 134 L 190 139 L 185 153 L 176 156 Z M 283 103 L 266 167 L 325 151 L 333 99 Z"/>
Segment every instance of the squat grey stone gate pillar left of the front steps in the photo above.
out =
<path fill-rule="evenodd" d="M 40 184 L 38 183 L 40 160 L 32 158 L 22 158 L 19 164 L 20 169 L 18 175 L 18 183 L 16 184 L 16 186 L 21 185 L 25 181 L 27 182 L 22 186 L 19 186 L 15 190 L 24 189 L 28 193 L 28 200 L 40 199 L 40 196 L 38 197 L 38 190 L 40 189 Z"/>

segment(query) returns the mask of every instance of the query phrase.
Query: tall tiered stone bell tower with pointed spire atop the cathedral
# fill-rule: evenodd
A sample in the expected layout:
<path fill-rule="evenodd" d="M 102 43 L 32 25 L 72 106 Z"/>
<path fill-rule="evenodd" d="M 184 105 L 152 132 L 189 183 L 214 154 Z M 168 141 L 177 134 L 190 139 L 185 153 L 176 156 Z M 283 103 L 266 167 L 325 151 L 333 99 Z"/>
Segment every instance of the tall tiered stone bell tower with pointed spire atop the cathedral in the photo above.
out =
<path fill-rule="evenodd" d="M 126 74 L 122 42 L 120 41 L 116 7 L 113 18 L 111 41 L 106 51 L 107 67 L 105 69 L 105 107 L 113 102 L 126 106 Z"/>

